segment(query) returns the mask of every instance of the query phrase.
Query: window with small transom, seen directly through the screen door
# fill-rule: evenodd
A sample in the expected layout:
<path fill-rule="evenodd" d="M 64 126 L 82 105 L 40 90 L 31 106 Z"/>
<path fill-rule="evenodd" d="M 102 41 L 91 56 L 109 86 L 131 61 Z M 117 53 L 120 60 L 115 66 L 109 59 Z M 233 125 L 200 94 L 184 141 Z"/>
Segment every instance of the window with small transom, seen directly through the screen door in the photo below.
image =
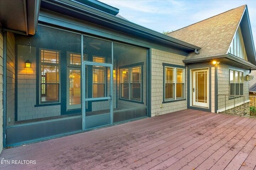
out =
<path fill-rule="evenodd" d="M 105 63 L 104 57 L 93 56 L 93 62 Z M 92 97 L 101 98 L 106 97 L 106 67 L 93 66 L 92 67 Z"/>

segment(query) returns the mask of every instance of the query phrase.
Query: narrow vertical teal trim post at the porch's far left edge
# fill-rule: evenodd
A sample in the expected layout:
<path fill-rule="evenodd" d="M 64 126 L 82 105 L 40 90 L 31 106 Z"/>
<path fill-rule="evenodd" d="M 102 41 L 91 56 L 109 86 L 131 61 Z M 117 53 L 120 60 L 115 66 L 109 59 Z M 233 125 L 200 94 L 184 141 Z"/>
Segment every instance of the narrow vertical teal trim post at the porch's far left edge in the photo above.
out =
<path fill-rule="evenodd" d="M 3 147 L 6 147 L 6 117 L 7 117 L 7 32 L 4 31 L 4 49 L 3 49 Z"/>

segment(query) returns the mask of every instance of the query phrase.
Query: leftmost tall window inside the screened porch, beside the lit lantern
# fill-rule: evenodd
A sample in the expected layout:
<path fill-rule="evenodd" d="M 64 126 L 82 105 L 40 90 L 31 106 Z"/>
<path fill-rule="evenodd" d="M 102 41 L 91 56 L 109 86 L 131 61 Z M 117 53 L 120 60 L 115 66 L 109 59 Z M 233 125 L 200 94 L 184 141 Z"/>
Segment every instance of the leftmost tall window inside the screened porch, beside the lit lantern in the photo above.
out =
<path fill-rule="evenodd" d="M 40 49 L 40 104 L 59 102 L 59 51 Z"/>

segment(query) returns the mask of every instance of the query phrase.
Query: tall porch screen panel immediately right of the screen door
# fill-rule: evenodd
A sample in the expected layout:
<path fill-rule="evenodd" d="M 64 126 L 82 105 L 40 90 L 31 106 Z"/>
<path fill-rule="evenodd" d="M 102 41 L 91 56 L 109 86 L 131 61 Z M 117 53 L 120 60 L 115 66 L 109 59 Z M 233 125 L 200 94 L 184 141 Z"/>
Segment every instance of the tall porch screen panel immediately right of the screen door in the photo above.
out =
<path fill-rule="evenodd" d="M 148 50 L 122 43 L 113 45 L 114 123 L 145 117 Z"/>

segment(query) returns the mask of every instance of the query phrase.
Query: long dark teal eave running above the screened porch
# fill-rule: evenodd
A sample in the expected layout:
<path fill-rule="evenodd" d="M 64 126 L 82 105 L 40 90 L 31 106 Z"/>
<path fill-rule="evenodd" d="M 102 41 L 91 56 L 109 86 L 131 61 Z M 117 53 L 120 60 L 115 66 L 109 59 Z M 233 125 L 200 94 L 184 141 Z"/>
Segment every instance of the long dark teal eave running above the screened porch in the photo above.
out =
<path fill-rule="evenodd" d="M 88 21 L 103 27 L 128 33 L 136 37 L 154 41 L 184 51 L 186 54 L 193 52 L 200 47 L 191 45 L 184 41 L 172 38 L 157 31 L 142 27 L 128 20 L 118 18 L 106 12 L 102 12 L 90 6 L 86 6 L 71 0 L 42 0 L 41 8 L 51 10 L 60 14 L 71 16 L 79 20 Z"/>

